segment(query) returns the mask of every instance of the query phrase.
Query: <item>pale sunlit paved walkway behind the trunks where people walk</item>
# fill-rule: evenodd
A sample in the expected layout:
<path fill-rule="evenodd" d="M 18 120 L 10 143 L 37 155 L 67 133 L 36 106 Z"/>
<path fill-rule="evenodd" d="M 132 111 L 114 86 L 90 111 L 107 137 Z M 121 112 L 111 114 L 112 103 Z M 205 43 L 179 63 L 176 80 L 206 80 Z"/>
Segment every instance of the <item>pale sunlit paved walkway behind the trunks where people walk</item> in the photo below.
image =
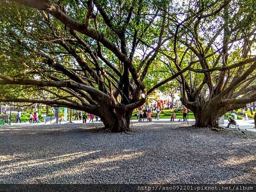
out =
<path fill-rule="evenodd" d="M 191 124 L 191 123 L 194 123 L 195 122 L 195 119 L 188 119 L 189 121 L 188 121 L 188 123 L 189 124 Z M 153 118 L 153 122 L 161 122 L 161 121 L 170 121 L 170 119 L 159 119 L 159 120 L 157 120 L 157 119 L 154 119 Z M 82 123 L 83 121 L 81 120 L 73 120 L 73 123 Z M 131 122 L 138 122 L 138 120 L 137 119 L 135 119 L 135 120 L 131 120 Z M 146 121 L 145 121 L 146 122 Z M 177 119 L 176 119 L 176 121 L 175 121 L 176 123 L 177 122 L 179 122 Z M 183 122 L 183 121 L 181 121 L 181 122 Z M 180 123 L 181 123 L 180 122 Z M 228 124 L 228 120 L 224 120 L 224 122 L 225 122 L 225 124 L 222 124 L 221 126 L 222 127 L 226 127 L 227 126 L 227 124 Z M 241 130 L 244 130 L 244 129 L 246 129 L 247 131 L 256 131 L 256 129 L 254 128 L 254 120 L 253 119 L 249 119 L 249 120 L 236 120 L 236 122 L 237 122 L 237 124 L 239 125 L 239 128 L 241 129 Z M 61 122 L 61 124 L 63 124 L 63 123 L 69 123 L 68 121 L 67 122 Z M 88 123 L 88 120 L 87 120 L 87 123 Z M 91 123 L 91 122 L 90 122 Z M 96 121 L 93 121 L 93 123 L 92 123 L 92 125 L 94 124 L 94 123 L 100 123 L 99 121 L 98 122 L 96 122 Z M 23 122 L 23 123 L 12 123 L 12 125 L 20 125 L 20 126 L 24 126 L 24 125 L 44 125 L 44 123 L 43 122 L 40 122 L 40 123 L 38 123 L 38 124 L 30 124 L 29 122 Z"/>

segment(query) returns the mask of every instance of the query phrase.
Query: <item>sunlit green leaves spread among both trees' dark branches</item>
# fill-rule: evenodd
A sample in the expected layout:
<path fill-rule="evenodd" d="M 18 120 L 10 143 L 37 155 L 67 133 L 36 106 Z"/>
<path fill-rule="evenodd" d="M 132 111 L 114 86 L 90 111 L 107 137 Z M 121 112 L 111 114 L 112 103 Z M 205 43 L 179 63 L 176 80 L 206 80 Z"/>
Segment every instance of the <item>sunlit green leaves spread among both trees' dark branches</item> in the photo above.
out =
<path fill-rule="evenodd" d="M 50 2 L 58 7 L 58 11 L 63 11 L 63 14 L 67 13 L 77 23 L 85 22 L 88 11 L 88 6 L 84 4 L 85 1 Z M 82 34 L 82 31 L 77 32 L 82 42 L 87 44 L 84 46 L 69 30 L 72 23 L 66 26 L 57 19 L 56 15 L 53 17 L 50 12 L 48 14 L 47 10 L 38 11 L 11 1 L 4 1 L 0 6 L 0 73 L 19 79 L 79 83 L 84 81 L 85 85 L 96 89 L 100 87 L 99 79 L 101 79 L 103 87 L 106 87 L 103 92 L 110 95 L 112 90 L 108 87 L 109 84 L 112 84 L 113 91 L 120 86 L 120 92 L 124 91 L 122 88 L 125 89 L 125 86 L 119 81 L 125 78 L 120 74 L 124 73 L 129 63 L 132 66 L 129 67 L 130 79 L 127 82 L 132 86 L 126 98 L 137 99 L 140 87 L 137 87 L 134 81 L 143 79 L 144 77 L 140 75 L 144 72 L 147 73 L 145 73 L 143 83 L 146 90 L 150 90 L 154 85 L 188 67 L 189 64 L 194 70 L 209 69 L 230 66 L 253 55 L 253 50 L 256 48 L 255 1 L 232 0 L 227 6 L 223 6 L 225 2 L 227 1 L 94 0 L 89 25 L 90 34 L 93 35 Z M 127 20 L 129 15 L 130 20 Z M 70 27 L 70 29 L 73 28 Z M 79 29 L 76 30 L 79 31 Z M 98 35 L 100 35 L 100 40 L 95 38 Z M 228 41 L 228 54 L 224 56 L 225 40 Z M 250 54 L 243 56 L 245 43 L 250 44 L 247 50 Z M 132 47 L 135 44 L 137 47 L 133 50 Z M 125 57 L 126 61 L 129 60 L 128 62 L 120 59 L 122 57 L 118 56 L 119 50 L 122 51 L 121 56 Z M 99 53 L 110 64 L 100 58 Z M 152 57 L 153 55 L 156 55 L 155 58 Z M 224 58 L 227 55 L 226 62 Z M 50 62 L 52 60 L 54 62 Z M 79 61 L 83 61 L 82 64 Z M 58 67 L 56 67 L 57 64 L 59 64 Z M 232 78 L 239 76 L 249 66 L 247 64 L 225 72 L 223 79 L 227 81 L 219 86 L 219 90 L 227 88 L 233 81 Z M 63 68 L 67 70 L 63 72 L 61 70 Z M 90 74 L 92 70 L 95 73 Z M 118 70 L 120 74 L 114 73 L 115 70 Z M 137 71 L 138 78 L 132 79 L 131 71 Z M 70 78 L 67 75 L 68 72 L 72 74 L 70 76 L 77 75 L 79 78 Z M 108 74 L 106 75 L 105 72 Z M 96 74 L 99 76 L 98 80 L 94 79 Z M 210 73 L 197 73 L 190 69 L 177 76 L 176 79 L 163 84 L 158 90 L 165 95 L 173 95 L 180 84 L 183 87 L 186 85 L 188 101 L 200 101 L 203 105 L 203 102 L 207 102 L 208 94 L 209 99 L 219 94 L 218 87 L 215 85 L 221 82 L 220 74 L 222 72 L 217 70 Z M 248 78 L 253 75 L 256 75 L 255 71 Z M 88 95 L 84 96 L 84 94 L 89 94 L 88 92 L 81 94 L 72 88 L 70 90 L 73 94 L 59 87 L 46 88 L 45 85 L 44 87 L 27 84 L 16 86 L 3 83 L 0 86 L 1 99 L 28 98 L 67 102 L 68 104 L 77 103 L 80 106 L 90 102 L 90 99 L 87 99 Z M 242 86 L 243 84 L 235 86 L 236 90 L 233 92 L 237 92 Z M 131 90 L 136 91 L 132 93 Z M 216 93 L 210 93 L 212 90 L 216 90 Z M 118 94 L 117 98 L 122 100 L 123 93 Z M 83 98 L 78 98 L 77 95 Z M 93 98 L 92 96 L 92 99 L 95 98 L 100 97 Z M 29 104 L 31 103 L 24 103 L 24 105 Z M 55 106 L 55 103 L 51 105 Z M 41 113 L 45 113 L 44 111 L 45 109 L 42 109 Z M 73 115 L 74 113 L 73 111 Z M 136 113 L 137 111 L 134 111 L 132 115 Z M 171 114 L 172 110 L 163 110 L 160 116 Z M 177 114 L 180 115 L 179 112 Z M 152 115 L 155 115 L 155 112 Z M 60 116 L 63 116 L 62 112 Z M 251 115 L 248 114 L 248 116 Z M 27 116 L 24 114 L 22 118 L 25 120 Z"/>

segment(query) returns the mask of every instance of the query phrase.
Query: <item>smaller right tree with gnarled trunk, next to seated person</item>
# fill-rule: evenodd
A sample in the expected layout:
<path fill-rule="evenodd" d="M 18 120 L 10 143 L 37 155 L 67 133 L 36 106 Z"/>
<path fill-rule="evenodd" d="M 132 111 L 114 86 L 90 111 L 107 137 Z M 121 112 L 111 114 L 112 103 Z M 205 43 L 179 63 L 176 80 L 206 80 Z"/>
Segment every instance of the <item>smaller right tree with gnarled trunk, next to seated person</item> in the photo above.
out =
<path fill-rule="evenodd" d="M 173 21 L 167 29 L 172 41 L 160 51 L 173 74 L 189 67 L 176 80 L 195 126 L 218 126 L 218 117 L 227 111 L 256 101 L 256 3 L 200 0 L 182 5 L 165 10 L 163 17 Z"/>

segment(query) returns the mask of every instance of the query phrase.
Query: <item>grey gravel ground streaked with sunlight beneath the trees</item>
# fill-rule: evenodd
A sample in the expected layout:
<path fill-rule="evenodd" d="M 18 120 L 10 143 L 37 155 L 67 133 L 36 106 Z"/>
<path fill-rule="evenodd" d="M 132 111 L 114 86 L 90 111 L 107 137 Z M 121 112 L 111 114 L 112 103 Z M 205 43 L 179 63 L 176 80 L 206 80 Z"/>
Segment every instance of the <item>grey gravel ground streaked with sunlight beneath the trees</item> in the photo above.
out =
<path fill-rule="evenodd" d="M 0 183 L 256 183 L 255 132 L 90 125 L 0 128 Z"/>

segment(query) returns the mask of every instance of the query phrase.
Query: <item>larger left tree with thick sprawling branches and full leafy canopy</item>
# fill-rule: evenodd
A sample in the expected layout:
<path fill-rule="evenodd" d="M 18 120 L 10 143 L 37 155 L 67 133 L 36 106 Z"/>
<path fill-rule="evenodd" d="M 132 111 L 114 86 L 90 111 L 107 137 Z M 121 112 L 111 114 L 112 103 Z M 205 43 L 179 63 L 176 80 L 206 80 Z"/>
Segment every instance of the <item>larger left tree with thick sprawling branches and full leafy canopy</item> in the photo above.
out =
<path fill-rule="evenodd" d="M 158 2 L 14 2 L 0 8 L 0 101 L 82 110 L 111 131 L 127 131 L 132 110 L 145 102 L 148 68 L 169 41 Z"/>

